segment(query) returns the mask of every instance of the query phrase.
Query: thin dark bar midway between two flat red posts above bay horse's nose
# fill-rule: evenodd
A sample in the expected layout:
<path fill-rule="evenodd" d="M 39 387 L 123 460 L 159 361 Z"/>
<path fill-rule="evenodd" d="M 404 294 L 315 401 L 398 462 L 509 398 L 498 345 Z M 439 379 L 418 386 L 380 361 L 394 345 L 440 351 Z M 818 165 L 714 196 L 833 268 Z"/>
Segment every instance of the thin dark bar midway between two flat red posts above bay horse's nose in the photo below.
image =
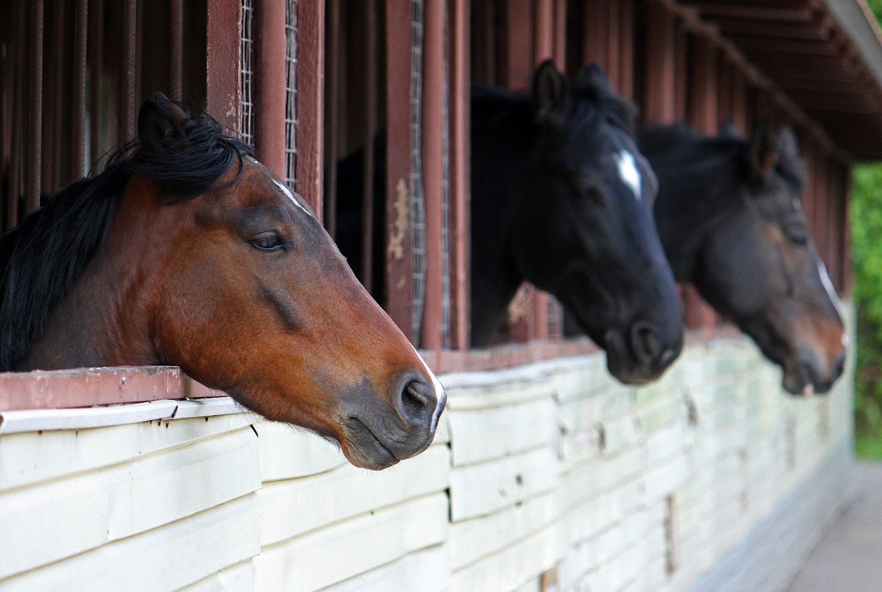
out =
<path fill-rule="evenodd" d="M 377 130 L 377 7 L 374 0 L 365 4 L 365 88 L 364 168 L 362 171 L 362 283 L 370 292 L 373 285 L 374 253 L 374 132 Z M 443 23 L 442 23 L 443 25 Z"/>

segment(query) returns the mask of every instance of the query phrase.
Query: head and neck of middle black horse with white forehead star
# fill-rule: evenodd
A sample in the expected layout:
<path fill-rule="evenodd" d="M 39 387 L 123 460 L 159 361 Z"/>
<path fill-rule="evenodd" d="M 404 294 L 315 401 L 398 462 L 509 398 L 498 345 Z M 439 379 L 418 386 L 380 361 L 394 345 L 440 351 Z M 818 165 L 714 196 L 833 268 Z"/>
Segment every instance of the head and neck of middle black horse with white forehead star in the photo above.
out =
<path fill-rule="evenodd" d="M 529 94 L 473 91 L 475 344 L 526 280 L 564 304 L 619 380 L 652 380 L 676 359 L 682 315 L 633 115 L 596 64 L 569 84 L 542 63 Z"/>

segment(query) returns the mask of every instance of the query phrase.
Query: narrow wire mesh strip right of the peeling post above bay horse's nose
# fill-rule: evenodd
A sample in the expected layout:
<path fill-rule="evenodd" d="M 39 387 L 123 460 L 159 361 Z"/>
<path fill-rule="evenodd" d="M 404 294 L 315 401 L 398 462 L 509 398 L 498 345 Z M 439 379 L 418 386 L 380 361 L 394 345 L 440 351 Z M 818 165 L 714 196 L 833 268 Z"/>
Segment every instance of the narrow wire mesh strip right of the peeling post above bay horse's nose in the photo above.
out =
<path fill-rule="evenodd" d="M 411 317 L 414 329 L 414 343 L 420 343 L 422 326 L 422 303 L 426 291 L 426 209 L 422 192 L 422 0 L 413 0 L 413 20 L 411 21 L 411 220 L 413 221 L 414 245 L 414 309 Z"/>

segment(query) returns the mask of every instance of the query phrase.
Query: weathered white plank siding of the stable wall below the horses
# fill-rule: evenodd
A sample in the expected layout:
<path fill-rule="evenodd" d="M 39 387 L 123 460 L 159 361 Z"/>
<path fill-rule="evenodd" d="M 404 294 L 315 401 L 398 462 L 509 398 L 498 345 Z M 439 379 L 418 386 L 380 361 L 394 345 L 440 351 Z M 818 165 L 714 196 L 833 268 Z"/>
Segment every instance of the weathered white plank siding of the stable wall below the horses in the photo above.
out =
<path fill-rule="evenodd" d="M 444 376 L 381 472 L 245 413 L 0 436 L 0 590 L 780 586 L 848 493 L 851 376 L 786 395 L 744 338 L 603 364 Z"/>

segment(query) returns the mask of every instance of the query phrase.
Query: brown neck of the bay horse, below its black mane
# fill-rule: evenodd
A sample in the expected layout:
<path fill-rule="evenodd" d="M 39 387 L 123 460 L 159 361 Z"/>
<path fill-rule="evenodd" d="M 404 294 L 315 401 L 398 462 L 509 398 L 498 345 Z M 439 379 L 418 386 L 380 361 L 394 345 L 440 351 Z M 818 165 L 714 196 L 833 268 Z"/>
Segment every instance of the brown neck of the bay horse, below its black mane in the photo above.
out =
<path fill-rule="evenodd" d="M 129 181 L 104 243 L 71 293 L 51 311 L 46 330 L 17 369 L 160 363 L 136 289 L 143 279 L 139 259 L 148 252 L 146 228 L 153 218 L 150 208 L 141 204 L 159 207 L 143 191 L 145 184 L 153 185 L 143 179 Z"/>

